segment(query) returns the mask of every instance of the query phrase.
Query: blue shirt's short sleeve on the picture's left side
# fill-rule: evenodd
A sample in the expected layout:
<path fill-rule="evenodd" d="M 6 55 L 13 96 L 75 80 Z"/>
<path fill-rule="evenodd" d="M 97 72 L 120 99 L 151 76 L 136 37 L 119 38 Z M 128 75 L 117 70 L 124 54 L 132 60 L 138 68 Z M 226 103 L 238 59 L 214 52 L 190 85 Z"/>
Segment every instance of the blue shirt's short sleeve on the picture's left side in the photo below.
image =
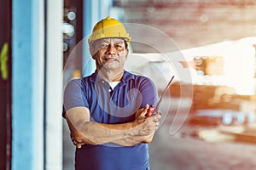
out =
<path fill-rule="evenodd" d="M 66 111 L 73 107 L 89 107 L 84 94 L 82 79 L 73 79 L 71 82 L 68 82 L 63 95 L 62 116 L 65 117 Z"/>

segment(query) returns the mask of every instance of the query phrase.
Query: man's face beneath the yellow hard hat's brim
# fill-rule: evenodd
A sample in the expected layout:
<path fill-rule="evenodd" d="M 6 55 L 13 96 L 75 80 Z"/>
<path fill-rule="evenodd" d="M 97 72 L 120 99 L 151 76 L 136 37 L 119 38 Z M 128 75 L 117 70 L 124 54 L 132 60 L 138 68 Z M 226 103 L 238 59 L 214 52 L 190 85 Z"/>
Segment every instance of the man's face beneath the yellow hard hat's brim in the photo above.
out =
<path fill-rule="evenodd" d="M 124 39 L 120 38 L 100 39 L 90 47 L 92 58 L 96 59 L 97 69 L 123 70 L 128 52 Z"/>

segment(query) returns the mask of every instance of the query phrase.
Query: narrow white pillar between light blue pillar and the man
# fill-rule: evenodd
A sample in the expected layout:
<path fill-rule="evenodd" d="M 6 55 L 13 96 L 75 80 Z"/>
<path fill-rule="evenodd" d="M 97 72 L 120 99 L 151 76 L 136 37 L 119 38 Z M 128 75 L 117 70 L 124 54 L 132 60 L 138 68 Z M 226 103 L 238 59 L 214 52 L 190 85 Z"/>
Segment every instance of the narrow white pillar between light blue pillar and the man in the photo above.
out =
<path fill-rule="evenodd" d="M 45 169 L 62 170 L 63 0 L 47 0 Z"/>

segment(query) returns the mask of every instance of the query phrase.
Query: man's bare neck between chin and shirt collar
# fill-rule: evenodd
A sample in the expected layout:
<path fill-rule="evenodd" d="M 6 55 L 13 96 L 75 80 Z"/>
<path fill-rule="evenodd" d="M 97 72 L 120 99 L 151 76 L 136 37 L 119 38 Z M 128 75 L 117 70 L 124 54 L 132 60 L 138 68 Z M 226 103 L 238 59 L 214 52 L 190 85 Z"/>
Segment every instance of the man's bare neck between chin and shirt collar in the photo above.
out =
<path fill-rule="evenodd" d="M 118 82 L 122 79 L 124 75 L 124 70 L 122 71 L 97 71 L 101 77 L 107 82 Z"/>

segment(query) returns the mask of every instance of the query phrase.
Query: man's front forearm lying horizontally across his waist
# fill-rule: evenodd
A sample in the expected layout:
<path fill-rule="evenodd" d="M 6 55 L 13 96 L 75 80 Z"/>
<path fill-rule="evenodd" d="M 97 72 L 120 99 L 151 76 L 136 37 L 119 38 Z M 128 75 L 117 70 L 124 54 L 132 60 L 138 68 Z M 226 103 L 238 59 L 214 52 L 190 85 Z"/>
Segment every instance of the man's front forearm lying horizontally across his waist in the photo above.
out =
<path fill-rule="evenodd" d="M 132 146 L 151 142 L 154 133 L 140 135 L 138 127 L 134 123 L 102 124 L 97 122 L 85 122 L 79 125 L 79 135 L 74 138 L 84 144 L 106 144 L 113 143 L 123 146 Z M 90 128 L 89 128 L 90 127 Z"/>

